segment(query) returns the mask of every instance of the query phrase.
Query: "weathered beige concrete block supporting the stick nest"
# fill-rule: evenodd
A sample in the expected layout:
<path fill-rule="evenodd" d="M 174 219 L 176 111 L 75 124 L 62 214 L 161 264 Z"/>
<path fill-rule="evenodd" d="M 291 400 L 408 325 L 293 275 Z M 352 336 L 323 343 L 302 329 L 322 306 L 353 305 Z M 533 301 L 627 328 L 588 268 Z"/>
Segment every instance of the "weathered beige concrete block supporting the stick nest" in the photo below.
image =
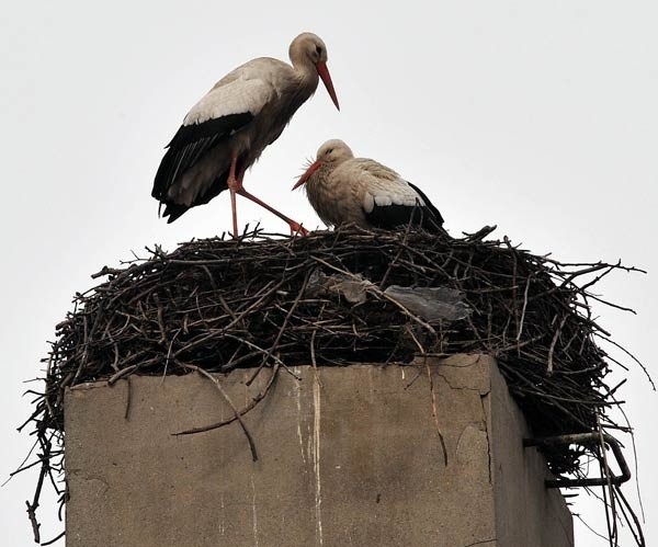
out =
<path fill-rule="evenodd" d="M 207 378 L 132 377 L 127 420 L 127 380 L 69 390 L 67 546 L 572 545 L 491 358 L 294 372 L 245 417 L 256 463 L 235 422 L 172 435 L 232 415 Z M 220 377 L 238 408 L 251 374 Z"/>

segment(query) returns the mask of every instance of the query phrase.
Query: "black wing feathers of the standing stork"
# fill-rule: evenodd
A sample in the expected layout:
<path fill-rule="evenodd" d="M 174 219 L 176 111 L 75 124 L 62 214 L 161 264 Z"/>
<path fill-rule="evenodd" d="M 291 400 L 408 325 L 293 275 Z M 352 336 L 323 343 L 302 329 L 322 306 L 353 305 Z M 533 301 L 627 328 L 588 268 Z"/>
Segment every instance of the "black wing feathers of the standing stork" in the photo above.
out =
<path fill-rule="evenodd" d="M 173 182 L 192 168 L 208 150 L 253 119 L 249 112 L 229 114 L 201 124 L 182 125 L 160 162 L 151 195 L 164 201 Z M 182 213 L 181 213 L 182 214 Z M 180 216 L 180 215 L 179 215 Z M 171 220 L 170 220 L 171 221 Z"/>

